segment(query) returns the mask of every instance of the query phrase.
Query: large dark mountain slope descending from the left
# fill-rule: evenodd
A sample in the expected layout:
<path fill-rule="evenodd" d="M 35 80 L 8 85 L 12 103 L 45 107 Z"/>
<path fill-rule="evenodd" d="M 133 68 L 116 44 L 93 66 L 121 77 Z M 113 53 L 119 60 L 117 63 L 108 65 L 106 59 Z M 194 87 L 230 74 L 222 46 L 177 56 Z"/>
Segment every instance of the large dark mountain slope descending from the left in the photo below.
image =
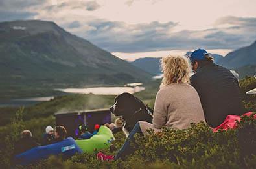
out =
<path fill-rule="evenodd" d="M 0 23 L 0 71 L 1 97 L 151 77 L 55 23 L 36 20 Z"/>

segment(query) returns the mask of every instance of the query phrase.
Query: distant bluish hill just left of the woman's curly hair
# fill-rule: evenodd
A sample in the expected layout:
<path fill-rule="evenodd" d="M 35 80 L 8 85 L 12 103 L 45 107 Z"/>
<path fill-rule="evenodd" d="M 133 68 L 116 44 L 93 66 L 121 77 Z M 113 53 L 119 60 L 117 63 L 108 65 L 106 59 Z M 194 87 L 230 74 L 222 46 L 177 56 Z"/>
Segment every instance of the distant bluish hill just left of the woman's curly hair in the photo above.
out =
<path fill-rule="evenodd" d="M 161 58 L 154 58 L 154 57 L 145 57 L 136 59 L 132 62 L 132 65 L 137 66 L 137 68 L 141 68 L 145 72 L 150 74 L 159 75 L 161 74 L 160 70 L 160 59 Z"/>

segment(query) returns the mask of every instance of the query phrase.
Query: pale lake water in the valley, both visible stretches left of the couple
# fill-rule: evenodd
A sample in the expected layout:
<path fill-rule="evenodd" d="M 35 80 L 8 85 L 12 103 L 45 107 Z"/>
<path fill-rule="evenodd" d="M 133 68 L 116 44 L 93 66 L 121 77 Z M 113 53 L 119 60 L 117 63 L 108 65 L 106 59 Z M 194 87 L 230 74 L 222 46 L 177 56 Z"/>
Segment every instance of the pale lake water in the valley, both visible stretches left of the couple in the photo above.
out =
<path fill-rule="evenodd" d="M 128 83 L 122 87 L 95 87 L 95 88 L 58 88 L 60 92 L 64 94 L 95 94 L 95 95 L 119 95 L 123 92 L 134 94 L 145 90 L 145 87 L 141 86 L 143 83 Z M 50 101 L 54 99 L 54 96 L 49 97 L 31 97 L 22 99 L 12 99 L 10 101 L 1 101 L 0 107 L 4 106 L 29 106 L 32 104 L 40 103 L 42 101 Z"/>

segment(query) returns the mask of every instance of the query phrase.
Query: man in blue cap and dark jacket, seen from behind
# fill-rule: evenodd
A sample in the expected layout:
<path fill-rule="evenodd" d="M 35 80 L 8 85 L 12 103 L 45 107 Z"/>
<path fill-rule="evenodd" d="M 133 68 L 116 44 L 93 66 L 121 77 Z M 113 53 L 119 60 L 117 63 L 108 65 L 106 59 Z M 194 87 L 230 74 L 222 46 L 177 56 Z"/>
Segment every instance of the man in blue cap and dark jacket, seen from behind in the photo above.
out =
<path fill-rule="evenodd" d="M 229 114 L 244 114 L 239 82 L 230 70 L 213 63 L 213 57 L 204 49 L 195 50 L 189 59 L 195 72 L 191 85 L 200 96 L 209 126 L 220 125 Z"/>

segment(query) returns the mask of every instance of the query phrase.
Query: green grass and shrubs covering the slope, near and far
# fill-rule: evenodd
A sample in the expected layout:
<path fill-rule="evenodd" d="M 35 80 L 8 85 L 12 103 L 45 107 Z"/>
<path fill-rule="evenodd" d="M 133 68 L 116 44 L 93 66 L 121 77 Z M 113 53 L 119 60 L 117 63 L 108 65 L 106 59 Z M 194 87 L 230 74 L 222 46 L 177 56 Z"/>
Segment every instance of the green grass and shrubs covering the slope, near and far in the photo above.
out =
<path fill-rule="evenodd" d="M 256 79 L 240 81 L 246 110 L 256 112 L 255 96 L 245 92 L 256 87 Z M 135 94 L 150 107 L 159 88 L 159 81 L 148 84 L 146 90 Z M 52 114 L 58 111 L 108 108 L 115 95 L 66 95 L 26 108 L 0 108 L 0 166 L 10 168 L 14 142 L 25 128 L 40 142 L 45 126 L 54 125 Z M 12 120 L 10 120 L 12 119 Z M 192 125 L 187 130 L 165 129 L 161 134 L 138 137 L 138 150 L 124 160 L 97 161 L 95 154 L 76 155 L 62 161 L 50 157 L 27 168 L 255 168 L 256 124 L 244 119 L 237 130 L 213 133 L 207 124 Z M 115 146 L 120 148 L 124 135 L 115 135 Z M 254 152 L 253 152 L 254 150 Z M 107 154 L 114 154 L 105 150 Z"/>

